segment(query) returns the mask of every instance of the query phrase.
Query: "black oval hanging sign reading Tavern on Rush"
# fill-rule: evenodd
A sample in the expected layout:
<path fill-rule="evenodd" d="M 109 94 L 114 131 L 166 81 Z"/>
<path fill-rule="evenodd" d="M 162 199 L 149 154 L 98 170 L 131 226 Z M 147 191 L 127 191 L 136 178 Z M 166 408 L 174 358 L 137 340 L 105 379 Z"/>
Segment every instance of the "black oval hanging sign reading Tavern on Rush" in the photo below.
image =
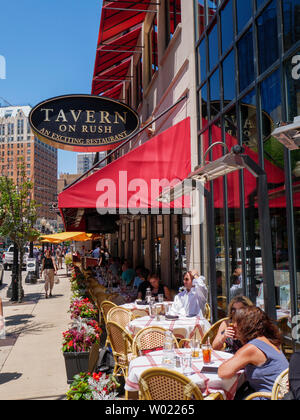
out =
<path fill-rule="evenodd" d="M 93 95 L 48 99 L 29 115 L 34 134 L 57 149 L 98 152 L 114 149 L 138 131 L 138 114 L 119 101 Z"/>

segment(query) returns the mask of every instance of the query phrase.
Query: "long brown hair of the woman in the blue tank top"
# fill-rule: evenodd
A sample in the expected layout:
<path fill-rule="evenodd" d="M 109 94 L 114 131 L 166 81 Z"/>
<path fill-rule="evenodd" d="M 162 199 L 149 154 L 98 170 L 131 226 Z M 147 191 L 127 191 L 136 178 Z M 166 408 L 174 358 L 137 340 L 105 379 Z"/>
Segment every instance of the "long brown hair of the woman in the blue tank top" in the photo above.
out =
<path fill-rule="evenodd" d="M 274 346 L 281 345 L 281 334 L 278 327 L 268 315 L 257 306 L 241 309 L 235 316 L 239 339 L 243 344 L 266 337 Z"/>

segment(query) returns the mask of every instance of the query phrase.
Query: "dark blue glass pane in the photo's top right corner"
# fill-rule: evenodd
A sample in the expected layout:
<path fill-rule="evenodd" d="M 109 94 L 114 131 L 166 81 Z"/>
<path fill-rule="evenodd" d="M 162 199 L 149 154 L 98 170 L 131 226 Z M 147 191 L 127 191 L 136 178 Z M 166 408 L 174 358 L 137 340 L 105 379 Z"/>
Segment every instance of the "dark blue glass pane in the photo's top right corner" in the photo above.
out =
<path fill-rule="evenodd" d="M 282 4 L 284 48 L 288 50 L 300 40 L 300 0 L 284 0 Z"/>

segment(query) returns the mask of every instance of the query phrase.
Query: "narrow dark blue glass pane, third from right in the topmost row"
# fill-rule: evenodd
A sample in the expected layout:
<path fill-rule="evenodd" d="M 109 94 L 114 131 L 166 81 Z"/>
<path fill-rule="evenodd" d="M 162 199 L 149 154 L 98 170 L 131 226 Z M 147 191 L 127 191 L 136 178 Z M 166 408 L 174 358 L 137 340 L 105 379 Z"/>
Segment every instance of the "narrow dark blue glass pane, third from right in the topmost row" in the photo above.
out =
<path fill-rule="evenodd" d="M 240 92 L 254 81 L 254 53 L 252 28 L 238 43 Z"/>

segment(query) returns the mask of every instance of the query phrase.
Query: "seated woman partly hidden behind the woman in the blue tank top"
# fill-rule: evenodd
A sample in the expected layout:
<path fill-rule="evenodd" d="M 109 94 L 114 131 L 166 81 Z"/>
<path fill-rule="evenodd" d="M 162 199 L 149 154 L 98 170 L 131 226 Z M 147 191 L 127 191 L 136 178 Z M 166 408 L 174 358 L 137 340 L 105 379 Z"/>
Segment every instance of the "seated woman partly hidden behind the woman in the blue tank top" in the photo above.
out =
<path fill-rule="evenodd" d="M 225 350 L 227 353 L 235 354 L 243 345 L 236 337 L 233 327 L 237 311 L 253 306 L 251 300 L 245 296 L 234 298 L 228 306 L 228 320 L 222 322 L 218 334 L 212 344 L 214 350 Z"/>

